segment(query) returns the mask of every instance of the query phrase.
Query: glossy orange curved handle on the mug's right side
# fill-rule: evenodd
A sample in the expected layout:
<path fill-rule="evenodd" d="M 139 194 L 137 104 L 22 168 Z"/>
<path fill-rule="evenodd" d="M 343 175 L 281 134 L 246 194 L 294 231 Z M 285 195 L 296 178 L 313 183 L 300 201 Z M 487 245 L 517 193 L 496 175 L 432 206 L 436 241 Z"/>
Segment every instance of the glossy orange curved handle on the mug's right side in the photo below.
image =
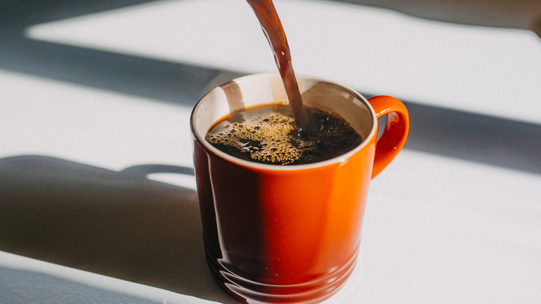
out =
<path fill-rule="evenodd" d="M 404 146 L 409 133 L 409 114 L 404 103 L 392 96 L 372 96 L 368 102 L 377 118 L 387 115 L 385 130 L 376 144 L 372 167 L 372 178 L 375 178 Z"/>

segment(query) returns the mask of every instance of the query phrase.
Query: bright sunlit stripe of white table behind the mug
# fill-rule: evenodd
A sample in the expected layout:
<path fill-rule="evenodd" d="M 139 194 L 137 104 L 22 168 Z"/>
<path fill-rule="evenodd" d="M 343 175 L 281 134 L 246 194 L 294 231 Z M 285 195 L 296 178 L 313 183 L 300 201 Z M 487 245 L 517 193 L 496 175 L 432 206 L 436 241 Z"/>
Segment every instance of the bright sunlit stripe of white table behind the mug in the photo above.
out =
<path fill-rule="evenodd" d="M 370 94 L 541 123 L 541 40 L 325 1 L 275 1 L 296 71 Z M 28 29 L 28 36 L 243 73 L 275 71 L 244 1 L 157 1 Z"/>

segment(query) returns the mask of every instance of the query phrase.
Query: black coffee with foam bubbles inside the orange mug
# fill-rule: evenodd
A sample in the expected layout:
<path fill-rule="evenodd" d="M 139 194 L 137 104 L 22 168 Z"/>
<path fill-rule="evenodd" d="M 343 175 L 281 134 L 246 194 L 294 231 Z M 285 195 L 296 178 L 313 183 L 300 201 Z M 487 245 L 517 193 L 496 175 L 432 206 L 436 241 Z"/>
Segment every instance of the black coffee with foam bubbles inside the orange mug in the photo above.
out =
<path fill-rule="evenodd" d="M 305 108 L 314 134 L 295 127 L 288 104 L 273 103 L 231 113 L 211 128 L 206 140 L 227 154 L 266 164 L 320 162 L 361 144 L 361 135 L 341 116 Z"/>

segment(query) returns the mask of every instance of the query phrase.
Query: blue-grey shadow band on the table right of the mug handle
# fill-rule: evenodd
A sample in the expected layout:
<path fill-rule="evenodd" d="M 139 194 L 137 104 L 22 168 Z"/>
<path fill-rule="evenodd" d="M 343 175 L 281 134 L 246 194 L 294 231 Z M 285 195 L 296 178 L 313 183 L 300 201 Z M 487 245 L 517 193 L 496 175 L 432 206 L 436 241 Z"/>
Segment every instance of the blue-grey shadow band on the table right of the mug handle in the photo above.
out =
<path fill-rule="evenodd" d="M 405 149 L 541 174 L 541 125 L 405 102 Z"/>

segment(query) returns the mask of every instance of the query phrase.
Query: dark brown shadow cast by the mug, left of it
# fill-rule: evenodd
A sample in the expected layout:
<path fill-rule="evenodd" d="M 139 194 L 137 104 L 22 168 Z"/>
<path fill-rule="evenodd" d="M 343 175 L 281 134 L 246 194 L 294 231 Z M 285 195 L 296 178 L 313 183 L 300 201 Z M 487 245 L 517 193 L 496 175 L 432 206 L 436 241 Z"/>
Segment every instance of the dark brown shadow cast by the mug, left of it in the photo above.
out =
<path fill-rule="evenodd" d="M 41 155 L 0 159 L 0 250 L 221 303 L 196 191 Z"/>

